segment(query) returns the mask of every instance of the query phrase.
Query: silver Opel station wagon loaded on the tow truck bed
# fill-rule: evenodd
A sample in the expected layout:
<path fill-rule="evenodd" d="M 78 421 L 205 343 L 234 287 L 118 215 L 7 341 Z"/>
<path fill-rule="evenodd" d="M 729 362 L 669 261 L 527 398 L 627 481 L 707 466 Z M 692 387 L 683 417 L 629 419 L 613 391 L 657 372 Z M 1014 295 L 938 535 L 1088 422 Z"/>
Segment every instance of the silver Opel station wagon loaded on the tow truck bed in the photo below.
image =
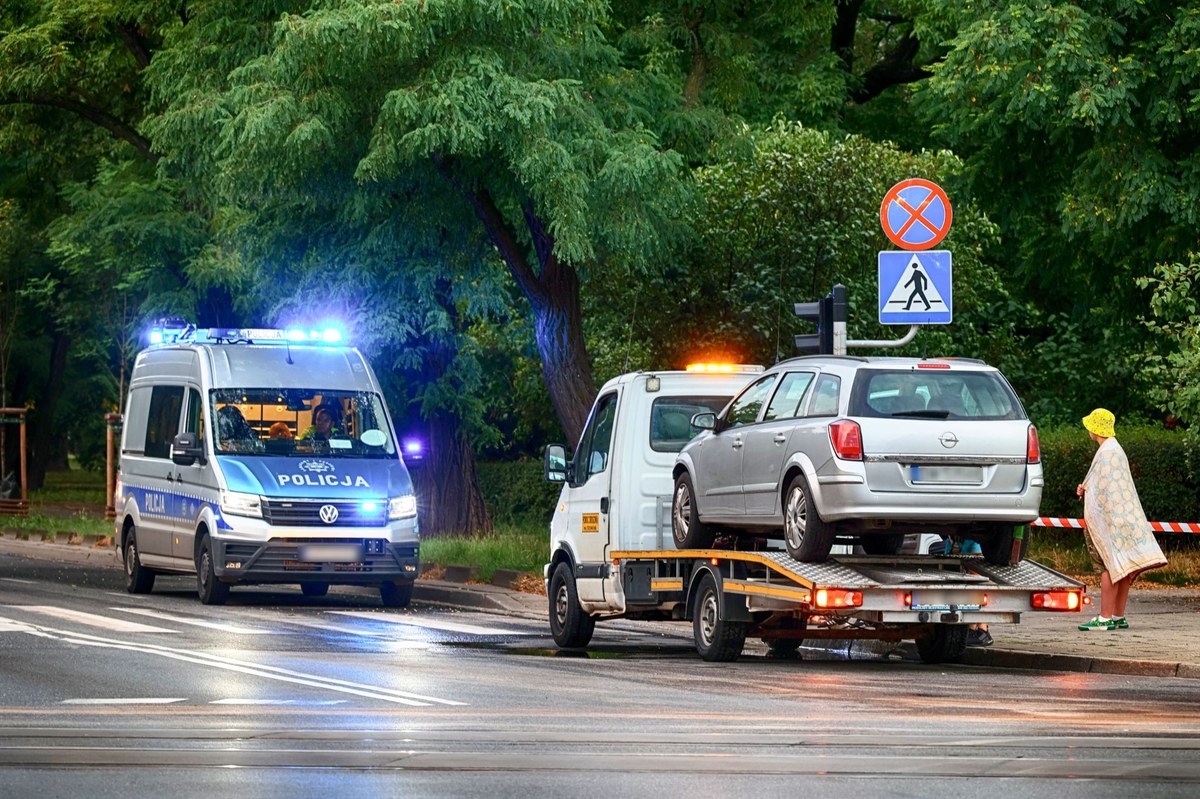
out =
<path fill-rule="evenodd" d="M 906 533 L 936 533 L 1002 564 L 1014 527 L 1038 516 L 1037 428 L 982 361 L 794 358 L 692 425 L 704 432 L 674 465 L 679 548 L 781 534 L 793 558 L 822 563 L 838 539 L 894 554 Z"/>

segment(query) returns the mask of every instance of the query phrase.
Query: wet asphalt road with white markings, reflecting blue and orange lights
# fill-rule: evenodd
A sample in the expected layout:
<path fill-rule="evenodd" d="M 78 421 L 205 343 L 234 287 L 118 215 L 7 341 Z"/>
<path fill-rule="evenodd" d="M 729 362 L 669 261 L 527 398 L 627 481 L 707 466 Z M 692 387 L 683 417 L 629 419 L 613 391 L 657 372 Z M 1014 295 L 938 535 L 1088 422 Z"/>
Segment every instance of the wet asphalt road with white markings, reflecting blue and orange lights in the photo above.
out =
<path fill-rule="evenodd" d="M 684 625 L 541 619 L 367 593 L 0 557 L 0 795 L 1194 795 L 1200 680 L 704 663 Z"/>

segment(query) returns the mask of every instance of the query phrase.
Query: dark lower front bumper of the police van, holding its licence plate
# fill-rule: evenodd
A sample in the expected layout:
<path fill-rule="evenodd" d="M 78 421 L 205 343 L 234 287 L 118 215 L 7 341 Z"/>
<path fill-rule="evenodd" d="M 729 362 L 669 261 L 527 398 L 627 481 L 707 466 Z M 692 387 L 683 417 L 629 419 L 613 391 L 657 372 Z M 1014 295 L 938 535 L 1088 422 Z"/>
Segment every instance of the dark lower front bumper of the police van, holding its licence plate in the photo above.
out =
<path fill-rule="evenodd" d="M 214 571 L 226 583 L 378 585 L 420 573 L 420 543 L 386 539 L 214 540 Z"/>

